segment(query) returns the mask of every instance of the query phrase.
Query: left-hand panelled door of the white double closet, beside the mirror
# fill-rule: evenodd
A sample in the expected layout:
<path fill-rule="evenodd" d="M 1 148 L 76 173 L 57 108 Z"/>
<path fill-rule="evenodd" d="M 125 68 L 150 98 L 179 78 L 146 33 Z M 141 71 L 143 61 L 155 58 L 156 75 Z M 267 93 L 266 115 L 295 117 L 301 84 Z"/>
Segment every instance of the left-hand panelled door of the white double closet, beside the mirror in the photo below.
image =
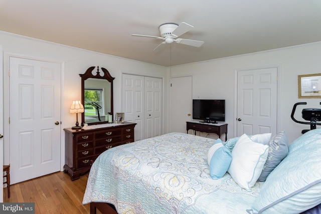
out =
<path fill-rule="evenodd" d="M 137 123 L 135 141 L 144 139 L 144 77 L 123 74 L 122 85 L 125 121 Z"/>

